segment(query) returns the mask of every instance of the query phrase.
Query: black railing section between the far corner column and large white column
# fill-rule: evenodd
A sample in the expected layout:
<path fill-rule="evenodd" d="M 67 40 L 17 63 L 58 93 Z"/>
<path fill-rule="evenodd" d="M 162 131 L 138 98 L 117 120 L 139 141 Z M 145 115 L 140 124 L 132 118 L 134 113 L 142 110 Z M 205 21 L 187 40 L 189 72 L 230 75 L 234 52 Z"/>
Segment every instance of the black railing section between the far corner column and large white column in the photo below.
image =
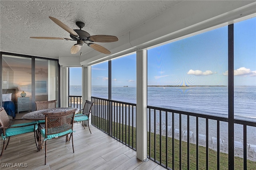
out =
<path fill-rule="evenodd" d="M 136 150 L 136 104 L 97 97 L 92 101 L 92 125 Z"/>

